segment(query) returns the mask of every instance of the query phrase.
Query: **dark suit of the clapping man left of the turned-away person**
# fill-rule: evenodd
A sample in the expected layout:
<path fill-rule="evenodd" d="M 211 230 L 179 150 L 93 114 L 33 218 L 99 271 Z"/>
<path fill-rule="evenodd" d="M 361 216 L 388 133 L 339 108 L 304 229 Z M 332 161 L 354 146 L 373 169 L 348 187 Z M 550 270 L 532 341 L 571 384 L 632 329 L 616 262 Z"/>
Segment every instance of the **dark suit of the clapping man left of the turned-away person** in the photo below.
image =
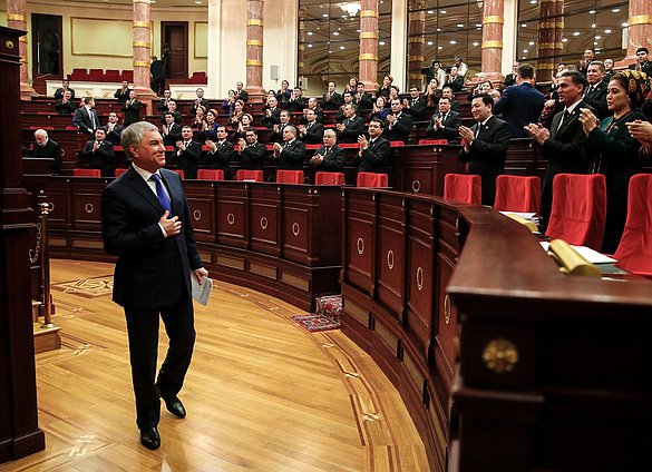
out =
<path fill-rule="evenodd" d="M 479 124 L 471 129 L 477 134 Z M 509 125 L 490 117 L 480 134 L 474 139 L 470 153 L 459 151 L 459 160 L 468 163 L 468 173 L 479 175 L 483 181 L 483 205 L 494 205 L 496 198 L 496 177 L 505 173 L 505 158 L 509 146 Z"/>

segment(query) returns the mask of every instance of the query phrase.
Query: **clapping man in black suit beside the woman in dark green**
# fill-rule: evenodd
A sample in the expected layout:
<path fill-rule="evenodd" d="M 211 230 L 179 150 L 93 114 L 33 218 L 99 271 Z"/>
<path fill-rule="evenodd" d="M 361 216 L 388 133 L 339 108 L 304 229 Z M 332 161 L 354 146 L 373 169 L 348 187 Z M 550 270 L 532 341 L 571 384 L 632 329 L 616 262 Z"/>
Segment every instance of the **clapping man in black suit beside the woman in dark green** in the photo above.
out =
<path fill-rule="evenodd" d="M 590 66 L 590 68 L 593 63 Z M 542 223 L 545 228 L 551 216 L 553 201 L 553 179 L 557 174 L 586 174 L 586 134 L 580 122 L 580 110 L 588 108 L 582 99 L 587 87 L 584 76 L 576 71 L 565 71 L 557 80 L 559 104 L 564 110 L 553 117 L 549 131 L 541 124 L 529 124 L 526 130 L 542 147 L 548 161 L 542 183 Z"/>

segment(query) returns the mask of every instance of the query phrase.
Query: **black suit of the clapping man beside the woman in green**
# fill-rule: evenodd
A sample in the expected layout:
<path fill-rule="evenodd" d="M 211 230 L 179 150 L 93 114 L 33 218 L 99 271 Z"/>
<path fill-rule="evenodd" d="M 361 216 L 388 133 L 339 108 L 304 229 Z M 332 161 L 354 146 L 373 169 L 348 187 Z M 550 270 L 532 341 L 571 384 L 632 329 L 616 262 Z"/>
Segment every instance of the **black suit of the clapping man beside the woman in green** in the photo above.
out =
<path fill-rule="evenodd" d="M 542 155 L 548 161 L 542 183 L 542 216 L 547 225 L 553 201 L 553 179 L 557 174 L 586 174 L 588 163 L 586 159 L 586 134 L 580 122 L 580 109 L 593 108 L 584 101 L 580 101 L 570 117 L 565 117 L 562 126 L 559 121 L 564 111 L 553 117 L 551 137 L 542 146 Z M 595 111 L 594 111 L 595 112 Z"/>

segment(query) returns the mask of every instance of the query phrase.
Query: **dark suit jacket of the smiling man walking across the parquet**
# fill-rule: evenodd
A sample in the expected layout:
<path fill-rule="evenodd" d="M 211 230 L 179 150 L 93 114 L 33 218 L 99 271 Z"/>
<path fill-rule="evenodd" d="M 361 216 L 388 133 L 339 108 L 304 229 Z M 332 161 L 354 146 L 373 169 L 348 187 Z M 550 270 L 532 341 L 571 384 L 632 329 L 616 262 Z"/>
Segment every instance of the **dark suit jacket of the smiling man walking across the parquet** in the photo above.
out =
<path fill-rule="evenodd" d="M 160 169 L 182 232 L 164 237 L 158 226 L 163 208 L 147 183 L 129 168 L 101 196 L 105 250 L 118 256 L 114 302 L 129 308 L 162 308 L 191 296 L 191 271 L 203 266 L 181 178 Z"/>

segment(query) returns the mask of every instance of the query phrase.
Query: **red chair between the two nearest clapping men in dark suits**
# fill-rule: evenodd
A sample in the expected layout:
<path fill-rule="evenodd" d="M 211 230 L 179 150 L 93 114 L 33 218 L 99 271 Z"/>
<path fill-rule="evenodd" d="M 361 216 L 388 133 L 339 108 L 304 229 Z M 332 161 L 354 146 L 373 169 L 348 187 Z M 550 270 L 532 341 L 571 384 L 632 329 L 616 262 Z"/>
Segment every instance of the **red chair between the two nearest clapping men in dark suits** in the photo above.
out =
<path fill-rule="evenodd" d="M 541 179 L 538 177 L 498 176 L 496 179 L 496 201 L 498 212 L 539 214 Z"/>

